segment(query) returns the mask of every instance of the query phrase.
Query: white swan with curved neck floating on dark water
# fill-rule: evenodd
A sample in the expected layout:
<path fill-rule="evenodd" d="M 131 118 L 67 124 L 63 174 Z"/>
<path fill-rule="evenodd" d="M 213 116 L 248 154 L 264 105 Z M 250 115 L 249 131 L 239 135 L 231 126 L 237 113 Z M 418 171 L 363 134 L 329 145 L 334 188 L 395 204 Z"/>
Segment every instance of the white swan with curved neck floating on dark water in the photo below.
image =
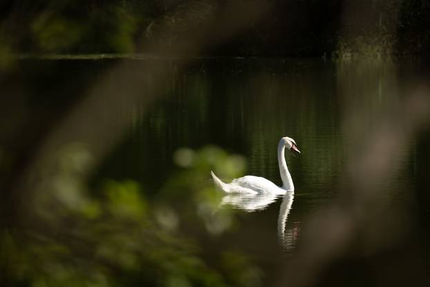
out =
<path fill-rule="evenodd" d="M 278 163 L 279 173 L 281 174 L 282 186 L 279 187 L 272 181 L 260 176 L 243 176 L 234 179 L 231 183 L 223 183 L 214 172 L 211 171 L 214 183 L 220 189 L 227 193 L 240 194 L 286 194 L 286 192 L 294 192 L 294 184 L 292 183 L 291 174 L 288 171 L 287 162 L 285 159 L 285 149 L 288 148 L 292 153 L 300 154 L 295 140 L 288 136 L 281 138 L 278 145 Z"/>

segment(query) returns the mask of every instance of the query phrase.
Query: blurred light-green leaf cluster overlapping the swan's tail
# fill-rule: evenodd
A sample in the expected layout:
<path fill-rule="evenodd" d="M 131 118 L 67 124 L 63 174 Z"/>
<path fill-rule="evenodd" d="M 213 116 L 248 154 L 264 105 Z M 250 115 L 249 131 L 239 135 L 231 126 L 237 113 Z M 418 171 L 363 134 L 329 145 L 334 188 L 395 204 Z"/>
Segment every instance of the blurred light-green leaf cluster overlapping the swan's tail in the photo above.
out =
<path fill-rule="evenodd" d="M 158 201 L 170 202 L 171 206 L 183 210 L 183 216 L 187 216 L 188 222 L 201 219 L 212 235 L 221 234 L 231 228 L 234 224 L 233 210 L 219 210 L 223 194 L 214 192 L 213 185 L 207 185 L 202 178 L 207 178 L 211 169 L 216 170 L 223 178 L 241 176 L 246 167 L 244 158 L 228 155 L 218 147 L 207 146 L 198 152 L 178 149 L 174 160 L 177 165 L 187 168 L 166 180 L 157 194 Z M 187 196 L 184 196 L 185 194 Z M 194 212 L 197 212 L 198 216 L 195 216 Z"/>

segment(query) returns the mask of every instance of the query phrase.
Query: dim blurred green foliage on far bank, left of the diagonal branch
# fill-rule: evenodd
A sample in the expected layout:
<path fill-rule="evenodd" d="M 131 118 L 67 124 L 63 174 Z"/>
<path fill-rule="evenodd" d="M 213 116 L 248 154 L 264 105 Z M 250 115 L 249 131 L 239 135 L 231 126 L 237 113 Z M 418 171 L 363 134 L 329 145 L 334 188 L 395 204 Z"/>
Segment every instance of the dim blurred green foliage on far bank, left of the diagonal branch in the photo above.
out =
<path fill-rule="evenodd" d="M 3 10 L 15 53 L 132 53 L 152 1 L 19 1 Z"/>

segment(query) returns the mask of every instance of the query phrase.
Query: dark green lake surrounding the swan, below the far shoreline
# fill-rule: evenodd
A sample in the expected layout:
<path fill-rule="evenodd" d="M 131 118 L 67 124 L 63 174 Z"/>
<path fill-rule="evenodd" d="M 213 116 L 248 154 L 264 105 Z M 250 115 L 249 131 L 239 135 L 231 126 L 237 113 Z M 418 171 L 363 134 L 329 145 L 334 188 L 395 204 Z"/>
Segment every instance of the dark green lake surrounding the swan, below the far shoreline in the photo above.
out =
<path fill-rule="evenodd" d="M 5 225 L 36 226 L 31 240 L 44 234 L 72 261 L 33 248 L 36 273 L 97 281 L 90 266 L 124 286 L 429 278 L 430 90 L 418 59 L 55 57 L 2 74 L 1 170 L 15 191 Z M 283 136 L 301 150 L 286 152 L 294 196 L 216 191 L 211 170 L 281 185 Z"/>

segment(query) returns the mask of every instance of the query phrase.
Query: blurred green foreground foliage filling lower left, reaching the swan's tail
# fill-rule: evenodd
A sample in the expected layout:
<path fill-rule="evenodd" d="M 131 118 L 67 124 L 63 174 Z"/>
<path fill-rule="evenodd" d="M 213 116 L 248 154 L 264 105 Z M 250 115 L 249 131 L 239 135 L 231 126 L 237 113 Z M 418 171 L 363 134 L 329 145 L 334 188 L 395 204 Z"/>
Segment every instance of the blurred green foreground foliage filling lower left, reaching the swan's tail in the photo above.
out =
<path fill-rule="evenodd" d="M 56 158 L 56 172 L 35 187 L 24 220 L 1 228 L 2 286 L 250 286 L 260 276 L 240 252 L 209 267 L 203 246 L 182 231 L 186 224 L 210 234 L 230 228 L 234 214 L 218 209 L 219 193 L 201 179 L 214 166 L 241 174 L 243 158 L 216 147 L 178 150 L 175 161 L 186 169 L 168 180 L 158 201 L 135 180 L 106 179 L 99 191 L 88 189 L 92 157 L 83 144 Z"/>

